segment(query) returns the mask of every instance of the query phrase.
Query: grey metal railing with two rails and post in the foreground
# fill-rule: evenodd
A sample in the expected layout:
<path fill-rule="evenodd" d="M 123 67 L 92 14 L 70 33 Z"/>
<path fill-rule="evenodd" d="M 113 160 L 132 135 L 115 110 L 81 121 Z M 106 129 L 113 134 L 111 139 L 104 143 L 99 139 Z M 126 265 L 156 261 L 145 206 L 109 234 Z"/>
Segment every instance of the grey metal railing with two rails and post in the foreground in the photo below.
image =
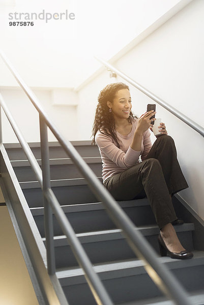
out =
<path fill-rule="evenodd" d="M 155 250 L 149 245 L 142 234 L 136 230 L 136 227 L 127 217 L 122 208 L 116 203 L 113 197 L 104 188 L 101 182 L 98 180 L 96 175 L 90 169 L 90 167 L 84 162 L 81 156 L 78 154 L 76 149 L 72 146 L 69 141 L 66 141 L 59 133 L 57 128 L 51 123 L 48 115 L 41 107 L 37 97 L 34 95 L 32 90 L 25 84 L 20 75 L 13 68 L 6 56 L 0 52 L 4 62 L 14 75 L 19 85 L 24 90 L 25 94 L 31 100 L 35 108 L 39 112 L 40 116 L 40 135 L 41 135 L 41 154 L 42 154 L 42 172 L 41 169 L 30 149 L 27 142 L 20 133 L 13 117 L 11 116 L 6 103 L 2 95 L 0 94 L 0 103 L 4 109 L 10 124 L 28 158 L 31 166 L 36 173 L 37 179 L 40 182 L 41 188 L 44 194 L 44 217 L 45 217 L 45 237 L 46 237 L 46 251 L 47 251 L 47 265 L 48 273 L 53 275 L 55 273 L 55 260 L 54 260 L 54 247 L 53 247 L 53 224 L 51 217 L 51 208 L 59 221 L 59 224 L 67 236 L 74 255 L 85 273 L 85 278 L 92 290 L 92 293 L 96 299 L 97 304 L 110 305 L 112 301 L 108 296 L 106 290 L 103 287 L 98 275 L 96 274 L 93 266 L 86 256 L 79 240 L 77 239 L 73 228 L 71 227 L 68 219 L 66 218 L 60 203 L 57 201 L 54 193 L 50 188 L 50 169 L 49 169 L 49 154 L 48 154 L 48 138 L 47 138 L 47 127 L 52 131 L 56 139 L 64 147 L 66 153 L 78 167 L 79 171 L 88 181 L 90 188 L 96 197 L 105 205 L 107 212 L 113 222 L 123 230 L 127 241 L 138 256 L 139 259 L 144 261 L 144 268 L 147 273 L 155 282 L 155 284 L 174 302 L 178 305 L 190 305 L 187 292 L 178 282 L 178 280 L 172 275 L 164 264 L 161 264 L 158 255 Z M 0 132 L 1 134 L 1 132 Z"/>

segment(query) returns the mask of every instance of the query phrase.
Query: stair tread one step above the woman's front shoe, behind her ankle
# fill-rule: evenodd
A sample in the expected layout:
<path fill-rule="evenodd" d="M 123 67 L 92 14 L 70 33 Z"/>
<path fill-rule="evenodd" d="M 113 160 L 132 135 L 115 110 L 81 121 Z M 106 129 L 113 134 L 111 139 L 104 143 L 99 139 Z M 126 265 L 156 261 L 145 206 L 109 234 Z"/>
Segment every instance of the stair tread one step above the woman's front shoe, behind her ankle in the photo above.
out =
<path fill-rule="evenodd" d="M 184 223 L 180 226 L 174 226 L 176 232 L 184 232 L 184 231 L 193 231 L 194 224 L 193 223 Z M 159 228 L 157 225 L 145 225 L 138 226 L 135 230 L 139 230 L 143 236 L 150 235 L 158 235 Z M 100 230 L 100 231 L 92 231 L 92 232 L 84 232 L 78 233 L 76 236 L 80 239 L 81 243 L 89 243 L 89 242 L 98 242 L 98 241 L 106 241 L 113 239 L 125 239 L 125 236 L 122 234 L 121 229 L 110 229 L 110 230 Z M 45 238 L 43 238 L 45 241 Z M 66 246 L 68 245 L 68 240 L 65 235 L 54 236 L 54 246 Z"/>

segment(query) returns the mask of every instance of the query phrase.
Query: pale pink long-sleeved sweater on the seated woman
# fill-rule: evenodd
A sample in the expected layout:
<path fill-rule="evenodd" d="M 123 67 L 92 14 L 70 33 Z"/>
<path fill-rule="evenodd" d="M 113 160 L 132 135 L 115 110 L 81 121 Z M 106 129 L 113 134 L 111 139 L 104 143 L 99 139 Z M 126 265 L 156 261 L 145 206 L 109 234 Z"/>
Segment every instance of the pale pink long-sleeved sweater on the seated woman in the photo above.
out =
<path fill-rule="evenodd" d="M 123 142 L 122 146 L 119 141 L 120 148 L 115 145 L 116 143 L 113 141 L 111 136 L 104 135 L 100 131 L 97 132 L 95 140 L 99 147 L 102 158 L 103 182 L 105 179 L 120 173 L 138 163 L 140 155 L 142 161 L 147 157 L 152 147 L 150 130 L 147 130 L 143 133 L 140 151 L 136 151 L 130 147 L 135 129 L 137 127 L 137 123 L 138 119 L 135 118 L 132 121 L 132 130 L 126 136 L 116 131 L 119 140 Z"/>

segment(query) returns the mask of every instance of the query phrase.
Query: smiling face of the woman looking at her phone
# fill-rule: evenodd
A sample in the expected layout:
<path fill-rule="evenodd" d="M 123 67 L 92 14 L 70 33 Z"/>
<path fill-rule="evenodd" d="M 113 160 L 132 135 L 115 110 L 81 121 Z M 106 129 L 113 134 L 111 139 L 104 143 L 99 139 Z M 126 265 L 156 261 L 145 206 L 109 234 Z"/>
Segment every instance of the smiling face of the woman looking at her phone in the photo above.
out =
<path fill-rule="evenodd" d="M 131 96 L 128 89 L 119 90 L 113 99 L 113 103 L 107 102 L 107 106 L 112 108 L 115 118 L 128 118 L 132 108 Z"/>

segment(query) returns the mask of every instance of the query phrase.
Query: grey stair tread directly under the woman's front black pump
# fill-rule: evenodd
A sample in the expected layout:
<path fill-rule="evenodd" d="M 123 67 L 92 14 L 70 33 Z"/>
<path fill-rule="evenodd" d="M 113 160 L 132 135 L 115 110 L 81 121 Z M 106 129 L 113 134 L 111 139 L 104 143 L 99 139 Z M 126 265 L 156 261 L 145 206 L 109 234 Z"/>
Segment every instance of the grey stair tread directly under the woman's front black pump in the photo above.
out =
<path fill-rule="evenodd" d="M 180 259 L 171 259 L 170 257 L 159 257 L 159 261 L 161 263 L 166 263 L 169 267 L 169 269 L 174 268 L 185 268 L 190 266 L 196 266 L 204 263 L 204 251 L 192 251 L 194 254 L 194 257 L 189 260 L 180 260 Z M 111 263 L 104 263 L 104 264 L 95 264 L 93 265 L 94 270 L 97 273 L 110 273 L 110 271 L 118 271 L 118 277 L 125 277 L 125 276 L 131 276 L 135 274 L 142 274 L 146 273 L 144 267 L 144 262 L 142 260 L 138 259 L 129 259 L 124 261 L 116 261 Z M 130 270 L 132 270 L 130 272 Z M 139 272 L 139 273 L 138 273 Z M 84 275 L 84 272 L 82 268 L 62 268 L 57 269 L 56 271 L 57 278 L 64 279 L 64 278 L 73 278 L 73 277 L 81 277 Z M 105 275 L 106 277 L 107 275 Z M 114 277 L 115 272 L 114 272 Z M 84 279 L 85 281 L 85 279 Z"/>

